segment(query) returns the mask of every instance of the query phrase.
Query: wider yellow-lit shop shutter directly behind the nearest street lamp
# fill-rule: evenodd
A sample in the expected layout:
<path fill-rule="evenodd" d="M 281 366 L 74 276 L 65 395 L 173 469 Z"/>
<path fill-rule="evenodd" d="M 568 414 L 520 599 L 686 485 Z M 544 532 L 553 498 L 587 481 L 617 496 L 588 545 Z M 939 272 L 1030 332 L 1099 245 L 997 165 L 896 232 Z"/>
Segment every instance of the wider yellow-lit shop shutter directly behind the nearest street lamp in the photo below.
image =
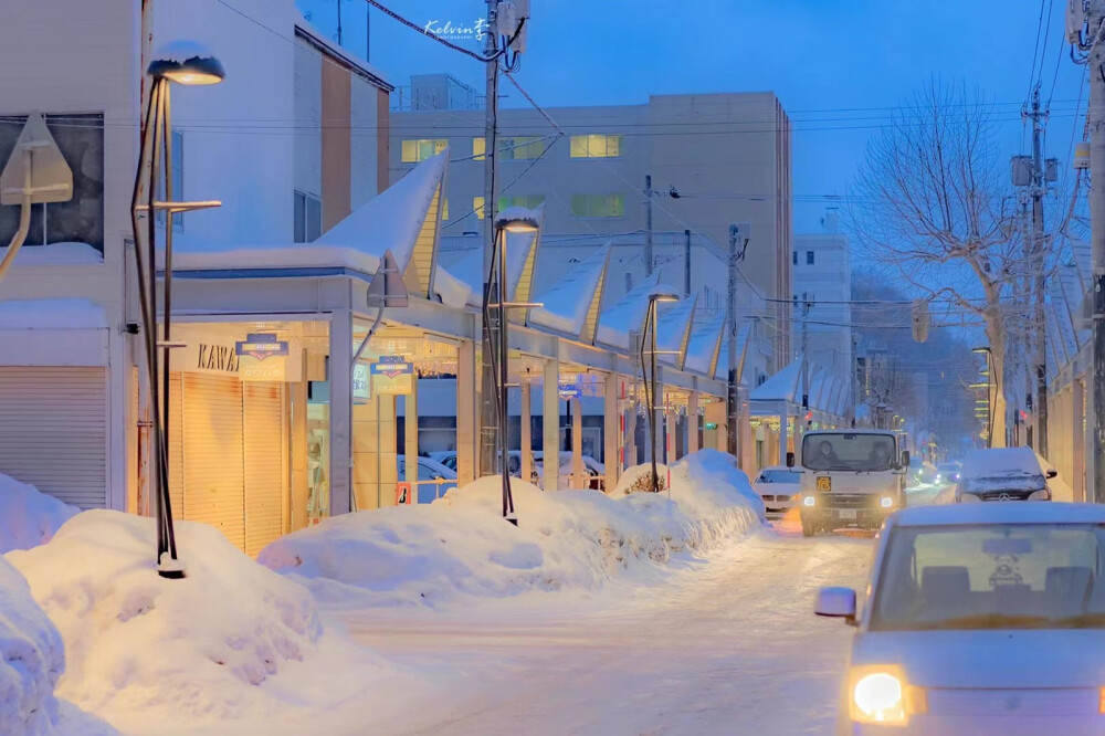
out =
<path fill-rule="evenodd" d="M 207 374 L 183 374 L 181 381 L 182 517 L 214 526 L 244 549 L 242 383 Z M 171 450 L 171 431 L 169 441 Z"/>

